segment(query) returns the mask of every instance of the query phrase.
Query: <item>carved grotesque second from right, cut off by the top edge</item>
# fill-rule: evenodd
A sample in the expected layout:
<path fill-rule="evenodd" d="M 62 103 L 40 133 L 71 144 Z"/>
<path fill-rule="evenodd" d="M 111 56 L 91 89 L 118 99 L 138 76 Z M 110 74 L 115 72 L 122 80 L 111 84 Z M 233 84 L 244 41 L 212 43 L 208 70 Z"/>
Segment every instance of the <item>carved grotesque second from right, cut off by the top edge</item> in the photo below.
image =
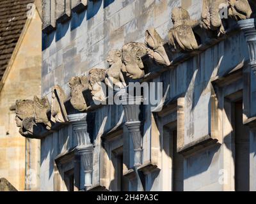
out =
<path fill-rule="evenodd" d="M 203 0 L 201 26 L 207 30 L 218 31 L 218 36 L 224 34 L 220 13 L 225 8 L 228 8 L 228 0 Z"/>

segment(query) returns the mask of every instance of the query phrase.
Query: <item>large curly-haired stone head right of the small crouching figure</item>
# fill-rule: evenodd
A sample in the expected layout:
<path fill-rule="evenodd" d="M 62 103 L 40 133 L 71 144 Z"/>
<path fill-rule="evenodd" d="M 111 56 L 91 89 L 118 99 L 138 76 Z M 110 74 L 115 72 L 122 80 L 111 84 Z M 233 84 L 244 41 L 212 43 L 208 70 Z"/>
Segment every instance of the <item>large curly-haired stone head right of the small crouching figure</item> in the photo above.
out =
<path fill-rule="evenodd" d="M 144 65 L 141 60 L 147 54 L 147 48 L 143 43 L 127 43 L 122 47 L 123 72 L 132 79 L 144 77 Z"/>

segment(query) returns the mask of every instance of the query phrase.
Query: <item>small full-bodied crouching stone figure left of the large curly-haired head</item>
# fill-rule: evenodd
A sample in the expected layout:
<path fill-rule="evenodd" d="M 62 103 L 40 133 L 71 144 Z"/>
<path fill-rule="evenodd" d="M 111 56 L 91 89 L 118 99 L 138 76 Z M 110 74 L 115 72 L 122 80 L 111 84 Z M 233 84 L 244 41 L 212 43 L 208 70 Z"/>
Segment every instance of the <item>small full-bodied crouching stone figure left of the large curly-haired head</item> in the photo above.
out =
<path fill-rule="evenodd" d="M 105 84 L 114 89 L 123 89 L 126 87 L 122 73 L 122 52 L 120 50 L 111 50 L 107 59 L 109 68 L 106 70 Z"/>

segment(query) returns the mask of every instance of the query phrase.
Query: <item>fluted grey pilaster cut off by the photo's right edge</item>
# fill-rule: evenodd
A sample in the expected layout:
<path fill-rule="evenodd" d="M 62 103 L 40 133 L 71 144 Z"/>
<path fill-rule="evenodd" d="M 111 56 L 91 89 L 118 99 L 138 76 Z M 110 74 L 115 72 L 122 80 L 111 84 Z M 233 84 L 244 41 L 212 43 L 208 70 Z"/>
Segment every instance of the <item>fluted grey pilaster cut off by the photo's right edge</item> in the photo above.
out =
<path fill-rule="evenodd" d="M 246 37 L 250 54 L 250 67 L 256 75 L 256 20 L 255 18 L 250 18 L 239 20 L 237 23 Z"/>

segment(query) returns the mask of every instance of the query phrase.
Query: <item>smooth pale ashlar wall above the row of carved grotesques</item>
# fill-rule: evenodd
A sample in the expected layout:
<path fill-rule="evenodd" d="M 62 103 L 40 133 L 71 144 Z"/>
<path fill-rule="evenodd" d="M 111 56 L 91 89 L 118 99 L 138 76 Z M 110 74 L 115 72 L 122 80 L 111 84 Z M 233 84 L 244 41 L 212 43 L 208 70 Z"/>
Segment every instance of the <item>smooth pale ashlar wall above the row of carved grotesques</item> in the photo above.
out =
<path fill-rule="evenodd" d="M 42 94 L 49 96 L 54 84 L 68 93 L 71 77 L 108 67 L 108 52 L 130 41 L 144 42 L 150 25 L 167 41 L 172 8 L 182 4 L 191 18 L 200 18 L 198 1 L 88 1 L 87 10 L 72 13 L 71 20 L 43 36 Z"/>

